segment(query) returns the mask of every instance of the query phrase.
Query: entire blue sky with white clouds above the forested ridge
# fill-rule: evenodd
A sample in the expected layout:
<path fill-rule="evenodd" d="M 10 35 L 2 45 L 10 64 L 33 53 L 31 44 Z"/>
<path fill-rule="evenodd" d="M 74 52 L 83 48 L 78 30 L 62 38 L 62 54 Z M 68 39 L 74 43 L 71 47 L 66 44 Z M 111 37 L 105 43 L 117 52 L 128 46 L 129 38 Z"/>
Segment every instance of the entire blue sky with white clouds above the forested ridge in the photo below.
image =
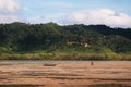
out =
<path fill-rule="evenodd" d="M 131 27 L 131 0 L 0 0 L 0 23 Z"/>

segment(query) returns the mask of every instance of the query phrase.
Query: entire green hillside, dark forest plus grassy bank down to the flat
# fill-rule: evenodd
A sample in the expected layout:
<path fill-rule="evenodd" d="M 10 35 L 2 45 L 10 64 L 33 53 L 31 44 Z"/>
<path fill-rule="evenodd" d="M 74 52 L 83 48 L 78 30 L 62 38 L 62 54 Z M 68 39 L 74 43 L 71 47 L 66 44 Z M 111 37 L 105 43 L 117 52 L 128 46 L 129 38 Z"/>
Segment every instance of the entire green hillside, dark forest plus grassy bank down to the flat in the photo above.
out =
<path fill-rule="evenodd" d="M 131 28 L 0 24 L 0 60 L 131 60 Z"/>

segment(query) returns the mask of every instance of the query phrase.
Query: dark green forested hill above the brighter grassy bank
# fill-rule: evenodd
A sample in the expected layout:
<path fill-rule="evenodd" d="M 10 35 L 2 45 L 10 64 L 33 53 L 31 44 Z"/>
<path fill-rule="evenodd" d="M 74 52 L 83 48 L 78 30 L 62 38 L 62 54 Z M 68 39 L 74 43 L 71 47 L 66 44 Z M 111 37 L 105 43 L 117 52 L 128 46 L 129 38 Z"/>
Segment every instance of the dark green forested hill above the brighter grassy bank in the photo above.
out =
<path fill-rule="evenodd" d="M 131 28 L 83 24 L 60 26 L 56 23 L 0 24 L 1 53 L 64 49 L 131 53 Z"/>

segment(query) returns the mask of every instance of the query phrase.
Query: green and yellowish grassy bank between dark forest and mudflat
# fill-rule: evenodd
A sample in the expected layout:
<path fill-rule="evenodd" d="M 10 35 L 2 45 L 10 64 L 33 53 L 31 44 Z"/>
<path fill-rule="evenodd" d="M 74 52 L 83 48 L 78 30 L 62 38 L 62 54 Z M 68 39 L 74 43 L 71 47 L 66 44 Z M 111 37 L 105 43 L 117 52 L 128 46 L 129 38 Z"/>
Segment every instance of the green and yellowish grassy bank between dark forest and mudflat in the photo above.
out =
<path fill-rule="evenodd" d="M 2 51 L 0 60 L 126 60 L 131 61 L 131 53 L 115 53 L 108 48 L 63 48 L 55 50 L 34 50 L 24 52 Z"/>

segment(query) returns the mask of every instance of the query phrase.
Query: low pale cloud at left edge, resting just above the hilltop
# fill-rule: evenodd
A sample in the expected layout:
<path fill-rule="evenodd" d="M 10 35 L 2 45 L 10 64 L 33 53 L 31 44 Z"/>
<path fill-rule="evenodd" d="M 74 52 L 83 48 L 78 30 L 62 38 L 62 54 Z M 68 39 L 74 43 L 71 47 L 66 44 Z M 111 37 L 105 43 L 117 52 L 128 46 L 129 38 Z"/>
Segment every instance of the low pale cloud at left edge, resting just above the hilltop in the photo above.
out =
<path fill-rule="evenodd" d="M 0 15 L 0 23 L 12 23 L 17 21 L 19 17 L 16 15 Z"/>

